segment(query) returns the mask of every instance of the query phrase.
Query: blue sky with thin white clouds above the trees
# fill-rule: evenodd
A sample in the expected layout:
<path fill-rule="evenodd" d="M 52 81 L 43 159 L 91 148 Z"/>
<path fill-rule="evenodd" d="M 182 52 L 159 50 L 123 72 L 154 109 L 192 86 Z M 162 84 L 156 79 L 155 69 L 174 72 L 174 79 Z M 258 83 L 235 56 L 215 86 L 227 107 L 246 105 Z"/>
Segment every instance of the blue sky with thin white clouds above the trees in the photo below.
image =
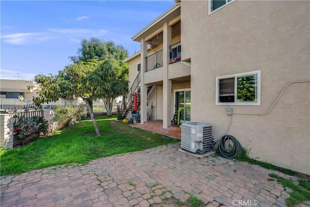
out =
<path fill-rule="evenodd" d="M 165 1 L 3 1 L 0 2 L 0 78 L 31 80 L 57 74 L 80 39 L 96 37 L 140 50 L 131 37 L 174 4 Z"/>

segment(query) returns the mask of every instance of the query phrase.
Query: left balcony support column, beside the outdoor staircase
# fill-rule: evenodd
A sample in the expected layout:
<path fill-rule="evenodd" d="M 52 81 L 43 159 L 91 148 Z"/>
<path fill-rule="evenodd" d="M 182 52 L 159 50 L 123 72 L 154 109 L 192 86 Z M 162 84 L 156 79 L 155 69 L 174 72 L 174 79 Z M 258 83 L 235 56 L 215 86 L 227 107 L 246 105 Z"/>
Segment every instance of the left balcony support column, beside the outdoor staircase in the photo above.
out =
<path fill-rule="evenodd" d="M 144 74 L 146 68 L 145 58 L 147 56 L 147 42 L 141 39 L 141 69 L 140 69 L 140 123 L 147 121 L 147 85 L 144 84 Z"/>

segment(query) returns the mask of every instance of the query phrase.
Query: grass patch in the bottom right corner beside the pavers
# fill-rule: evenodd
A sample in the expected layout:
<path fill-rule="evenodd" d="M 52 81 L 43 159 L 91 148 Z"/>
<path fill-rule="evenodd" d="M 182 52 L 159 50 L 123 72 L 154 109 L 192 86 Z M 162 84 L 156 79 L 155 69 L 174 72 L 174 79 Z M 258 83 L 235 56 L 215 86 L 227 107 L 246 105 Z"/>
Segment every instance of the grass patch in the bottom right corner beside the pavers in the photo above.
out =
<path fill-rule="evenodd" d="M 270 177 L 276 178 L 284 188 L 290 188 L 290 197 L 286 199 L 285 204 L 289 207 L 300 204 L 303 201 L 310 200 L 310 181 L 298 179 L 298 185 L 294 184 L 291 179 L 283 178 L 279 175 L 269 174 Z"/>

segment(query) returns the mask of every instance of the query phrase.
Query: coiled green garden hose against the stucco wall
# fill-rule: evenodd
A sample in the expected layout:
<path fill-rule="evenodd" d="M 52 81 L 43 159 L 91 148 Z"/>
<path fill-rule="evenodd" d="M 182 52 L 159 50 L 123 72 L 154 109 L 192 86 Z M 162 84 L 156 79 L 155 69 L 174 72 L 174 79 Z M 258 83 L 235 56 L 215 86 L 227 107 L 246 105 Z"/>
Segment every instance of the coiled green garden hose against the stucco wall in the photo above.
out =
<path fill-rule="evenodd" d="M 222 158 L 236 159 L 243 153 L 242 146 L 232 135 L 224 135 L 219 140 L 217 155 Z"/>

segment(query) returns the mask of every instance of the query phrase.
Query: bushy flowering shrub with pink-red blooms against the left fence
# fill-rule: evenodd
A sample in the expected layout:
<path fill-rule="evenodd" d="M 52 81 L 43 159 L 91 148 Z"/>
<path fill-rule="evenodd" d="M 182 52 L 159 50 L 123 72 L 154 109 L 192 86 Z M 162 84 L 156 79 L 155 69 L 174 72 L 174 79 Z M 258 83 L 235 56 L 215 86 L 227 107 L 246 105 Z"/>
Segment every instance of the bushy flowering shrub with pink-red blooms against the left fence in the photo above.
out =
<path fill-rule="evenodd" d="M 38 138 L 40 133 L 47 129 L 47 121 L 41 116 L 27 118 L 24 115 L 15 115 L 14 118 L 13 132 L 23 141 L 23 144 L 26 139 Z"/>

